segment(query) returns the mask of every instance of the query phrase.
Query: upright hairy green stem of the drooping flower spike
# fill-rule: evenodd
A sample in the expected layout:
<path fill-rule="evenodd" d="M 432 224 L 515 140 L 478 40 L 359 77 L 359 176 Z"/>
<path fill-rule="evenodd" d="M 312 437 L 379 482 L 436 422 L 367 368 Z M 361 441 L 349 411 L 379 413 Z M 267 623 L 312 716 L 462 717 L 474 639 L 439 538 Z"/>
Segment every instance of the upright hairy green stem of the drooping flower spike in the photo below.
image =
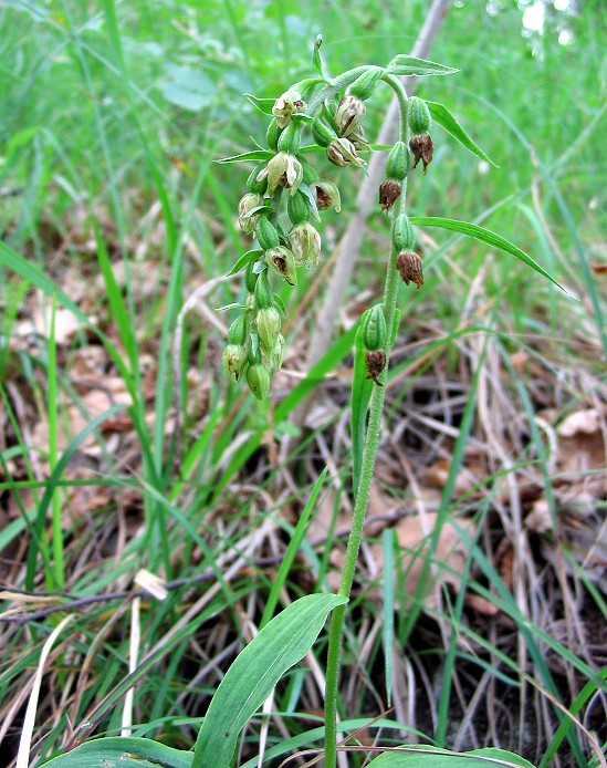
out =
<path fill-rule="evenodd" d="M 402 141 L 407 142 L 407 93 L 405 87 L 393 75 L 386 75 L 385 81 L 396 92 L 400 105 L 400 135 Z M 394 216 L 405 212 L 407 195 L 407 179 L 402 180 L 402 191 L 394 208 Z M 396 297 L 398 291 L 398 272 L 396 269 L 396 260 L 398 252 L 393 247 L 390 249 L 390 258 L 386 271 L 386 283 L 384 288 L 384 315 L 388 329 L 388 342 L 386 349 L 386 365 L 379 376 L 379 382 L 383 386 L 374 387 L 369 422 L 367 427 L 367 436 L 365 449 L 363 452 L 363 463 L 360 469 L 360 481 L 356 492 L 354 504 L 352 530 L 348 537 L 346 547 L 346 557 L 342 571 L 342 580 L 337 593 L 344 598 L 349 598 L 358 552 L 363 541 L 363 531 L 365 526 L 365 517 L 369 501 L 369 491 L 375 469 L 375 459 L 377 448 L 379 446 L 379 437 L 381 432 L 381 415 L 384 413 L 384 401 L 386 398 L 386 383 L 388 374 L 389 353 L 391 350 L 393 325 L 396 311 Z M 328 651 L 326 663 L 326 689 L 325 689 L 325 768 L 335 768 L 337 762 L 337 686 L 339 681 L 339 662 L 342 654 L 342 632 L 344 627 L 344 616 L 346 612 L 345 605 L 339 605 L 334 609 L 331 616 L 331 626 L 328 631 Z"/>

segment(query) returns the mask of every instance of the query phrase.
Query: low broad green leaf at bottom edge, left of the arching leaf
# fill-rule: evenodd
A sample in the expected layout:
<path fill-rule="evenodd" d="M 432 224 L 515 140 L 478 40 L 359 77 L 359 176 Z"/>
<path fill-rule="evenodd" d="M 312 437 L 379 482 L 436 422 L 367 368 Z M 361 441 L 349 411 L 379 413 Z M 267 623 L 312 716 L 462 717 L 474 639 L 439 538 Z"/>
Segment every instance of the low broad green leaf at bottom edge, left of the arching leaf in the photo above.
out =
<path fill-rule="evenodd" d="M 111 736 L 86 741 L 53 757 L 50 768 L 190 768 L 193 755 L 149 738 Z"/>

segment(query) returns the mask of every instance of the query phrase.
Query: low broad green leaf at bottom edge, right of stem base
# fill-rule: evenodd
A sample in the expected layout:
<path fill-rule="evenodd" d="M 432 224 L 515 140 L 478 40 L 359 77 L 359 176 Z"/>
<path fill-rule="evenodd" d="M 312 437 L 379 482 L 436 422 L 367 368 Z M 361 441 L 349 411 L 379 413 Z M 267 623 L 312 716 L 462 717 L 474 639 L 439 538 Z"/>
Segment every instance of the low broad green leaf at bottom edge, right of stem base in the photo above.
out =
<path fill-rule="evenodd" d="M 451 753 L 448 749 L 423 744 L 385 751 L 369 762 L 369 768 L 496 768 L 498 766 L 533 768 L 528 760 L 505 749 L 485 747 L 469 753 Z"/>

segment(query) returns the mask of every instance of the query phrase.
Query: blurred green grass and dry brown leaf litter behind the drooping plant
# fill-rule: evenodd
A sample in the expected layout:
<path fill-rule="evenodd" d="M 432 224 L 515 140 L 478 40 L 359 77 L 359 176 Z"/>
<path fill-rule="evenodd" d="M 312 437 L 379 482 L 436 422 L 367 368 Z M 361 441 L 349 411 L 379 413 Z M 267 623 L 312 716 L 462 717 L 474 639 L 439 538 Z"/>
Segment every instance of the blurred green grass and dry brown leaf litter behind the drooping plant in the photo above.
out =
<path fill-rule="evenodd" d="M 213 308 L 240 295 L 222 277 L 245 248 L 236 221 L 248 170 L 213 160 L 263 142 L 265 121 L 242 94 L 278 96 L 306 76 L 318 32 L 332 72 L 385 64 L 410 51 L 427 8 L 0 9 L 7 765 L 41 648 L 65 612 L 76 617 L 46 662 L 38 760 L 119 733 L 129 683 L 135 734 L 192 744 L 315 487 L 280 601 L 334 588 L 349 509 L 350 329 L 380 291 L 386 219 L 368 221 L 326 378 L 303 370 L 326 272 L 284 292 L 285 371 L 259 405 L 220 372 L 229 319 Z M 598 759 L 607 740 L 606 39 L 600 0 L 460 0 L 429 56 L 461 74 L 428 79 L 418 94 L 447 104 L 499 168 L 437 128 L 426 183 L 409 187 L 411 215 L 504 233 L 577 299 L 505 255 L 420 233 L 426 284 L 401 288 L 349 614 L 342 692 L 345 729 L 362 728 L 353 744 L 405 733 L 567 766 Z M 387 98 L 368 117 L 371 139 Z M 325 259 L 356 196 L 356 174 L 341 174 L 344 210 L 327 218 Z M 321 397 L 299 429 L 290 415 L 310 390 Z M 418 583 L 426 557 L 433 579 Z M 140 569 L 168 582 L 165 599 L 140 592 Z M 291 751 L 318 746 L 325 642 L 280 685 L 272 718 L 244 733 L 240 765 L 257 765 L 263 748 L 264 765 L 279 765 L 285 739 Z M 396 728 L 367 727 L 390 706 Z M 579 724 L 566 734 L 563 706 Z"/>

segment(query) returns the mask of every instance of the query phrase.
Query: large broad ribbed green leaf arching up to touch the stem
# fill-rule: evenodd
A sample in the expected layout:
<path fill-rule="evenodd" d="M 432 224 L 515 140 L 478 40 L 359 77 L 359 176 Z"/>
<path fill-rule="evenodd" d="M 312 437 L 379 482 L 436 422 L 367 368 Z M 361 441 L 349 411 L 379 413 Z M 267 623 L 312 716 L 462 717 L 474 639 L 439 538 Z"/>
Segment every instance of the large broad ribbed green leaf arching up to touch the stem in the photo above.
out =
<path fill-rule="evenodd" d="M 282 675 L 312 647 L 337 594 L 308 594 L 278 614 L 237 656 L 211 699 L 191 768 L 230 768 L 238 737 Z"/>

